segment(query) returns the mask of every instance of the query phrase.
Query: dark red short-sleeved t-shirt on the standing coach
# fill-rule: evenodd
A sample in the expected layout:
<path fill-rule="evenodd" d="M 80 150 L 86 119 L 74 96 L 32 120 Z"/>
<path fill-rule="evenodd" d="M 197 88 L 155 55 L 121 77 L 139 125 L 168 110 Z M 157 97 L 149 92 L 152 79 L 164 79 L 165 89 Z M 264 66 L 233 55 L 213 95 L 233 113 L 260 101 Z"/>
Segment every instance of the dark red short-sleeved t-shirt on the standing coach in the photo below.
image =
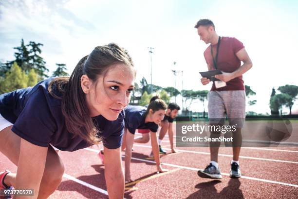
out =
<path fill-rule="evenodd" d="M 216 56 L 217 44 L 209 45 L 205 52 L 204 57 L 208 65 L 215 70 L 213 60 L 211 56 L 211 46 L 213 50 L 213 56 Z M 244 48 L 243 43 L 236 38 L 221 37 L 221 43 L 218 51 L 217 68 L 226 73 L 236 71 L 241 66 L 241 61 L 237 58 L 236 53 Z M 233 91 L 233 90 L 244 90 L 242 76 L 234 78 L 226 82 L 226 86 L 222 88 L 215 88 L 213 83 L 211 91 Z"/>

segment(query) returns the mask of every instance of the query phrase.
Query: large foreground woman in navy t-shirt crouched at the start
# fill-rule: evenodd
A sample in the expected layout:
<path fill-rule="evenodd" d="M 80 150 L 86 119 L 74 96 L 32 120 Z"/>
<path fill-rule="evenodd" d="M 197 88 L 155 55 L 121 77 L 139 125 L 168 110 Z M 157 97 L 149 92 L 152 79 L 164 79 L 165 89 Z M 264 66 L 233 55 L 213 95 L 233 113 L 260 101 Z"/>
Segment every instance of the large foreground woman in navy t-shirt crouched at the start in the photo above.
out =
<path fill-rule="evenodd" d="M 123 199 L 123 109 L 134 79 L 128 53 L 110 43 L 81 59 L 71 77 L 0 95 L 0 152 L 18 166 L 16 174 L 0 172 L 0 189 L 34 189 L 26 199 L 48 198 L 64 173 L 52 146 L 75 151 L 103 140 L 109 197 Z"/>

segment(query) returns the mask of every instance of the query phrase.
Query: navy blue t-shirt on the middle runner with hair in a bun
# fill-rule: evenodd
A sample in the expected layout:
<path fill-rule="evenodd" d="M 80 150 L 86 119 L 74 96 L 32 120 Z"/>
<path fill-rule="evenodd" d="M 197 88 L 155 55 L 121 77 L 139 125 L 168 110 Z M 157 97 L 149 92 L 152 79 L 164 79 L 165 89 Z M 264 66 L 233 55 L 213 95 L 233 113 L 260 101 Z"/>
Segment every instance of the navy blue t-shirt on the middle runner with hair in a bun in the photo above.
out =
<path fill-rule="evenodd" d="M 129 105 L 125 109 L 125 127 L 130 133 L 134 134 L 136 129 L 149 129 L 156 133 L 158 125 L 154 122 L 145 123 L 145 113 L 147 108 L 144 106 Z"/>

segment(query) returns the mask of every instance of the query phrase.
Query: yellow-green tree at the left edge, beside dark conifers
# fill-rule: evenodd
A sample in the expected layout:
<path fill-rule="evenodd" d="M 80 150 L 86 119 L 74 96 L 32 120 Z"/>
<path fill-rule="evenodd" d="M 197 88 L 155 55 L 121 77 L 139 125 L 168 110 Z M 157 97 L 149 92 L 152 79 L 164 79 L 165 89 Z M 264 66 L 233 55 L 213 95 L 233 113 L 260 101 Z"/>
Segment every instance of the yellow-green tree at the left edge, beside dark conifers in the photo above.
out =
<path fill-rule="evenodd" d="M 0 93 L 8 93 L 19 88 L 25 88 L 28 85 L 28 77 L 25 72 L 14 62 L 5 78 L 0 82 Z"/>

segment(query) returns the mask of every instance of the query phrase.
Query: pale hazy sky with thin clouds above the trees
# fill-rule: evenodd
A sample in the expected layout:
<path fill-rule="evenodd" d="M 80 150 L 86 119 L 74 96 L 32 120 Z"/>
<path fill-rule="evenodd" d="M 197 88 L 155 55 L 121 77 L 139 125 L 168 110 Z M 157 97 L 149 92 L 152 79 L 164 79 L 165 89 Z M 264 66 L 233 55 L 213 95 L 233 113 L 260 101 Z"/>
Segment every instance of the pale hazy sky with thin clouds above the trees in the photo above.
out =
<path fill-rule="evenodd" d="M 13 47 L 23 38 L 44 44 L 50 75 L 55 63 L 66 63 L 71 73 L 95 46 L 116 42 L 130 52 L 139 83 L 142 77 L 150 81 L 148 47 L 154 47 L 153 84 L 174 86 L 175 69 L 184 71 L 184 89 L 209 90 L 199 75 L 207 70 L 208 45 L 193 28 L 207 18 L 220 36 L 242 41 L 253 61 L 243 79 L 257 93 L 251 98 L 257 104 L 246 110 L 270 113 L 272 87 L 298 85 L 297 10 L 295 0 L 0 0 L 0 59 L 14 59 Z M 181 84 L 177 76 L 179 90 Z M 195 102 L 191 109 L 202 111 L 203 105 Z"/>

